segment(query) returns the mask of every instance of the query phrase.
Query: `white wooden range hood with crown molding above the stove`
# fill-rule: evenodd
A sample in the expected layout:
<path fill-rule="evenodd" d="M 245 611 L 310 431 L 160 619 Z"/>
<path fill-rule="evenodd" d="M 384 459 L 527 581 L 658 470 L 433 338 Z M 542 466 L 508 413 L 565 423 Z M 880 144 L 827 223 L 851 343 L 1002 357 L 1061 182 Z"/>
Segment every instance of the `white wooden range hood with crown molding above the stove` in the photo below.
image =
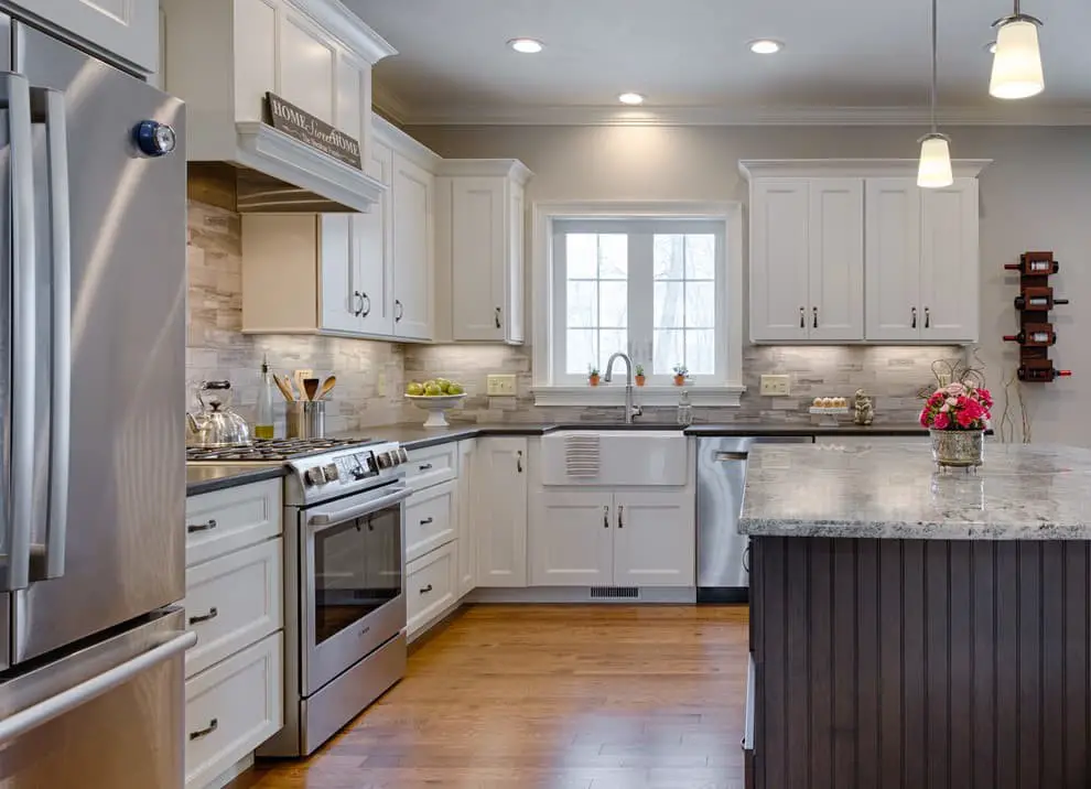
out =
<path fill-rule="evenodd" d="M 188 106 L 186 152 L 355 210 L 382 185 L 266 123 L 273 93 L 371 151 L 371 67 L 395 50 L 338 0 L 162 0 L 163 84 Z M 241 207 L 241 196 L 240 196 Z"/>

